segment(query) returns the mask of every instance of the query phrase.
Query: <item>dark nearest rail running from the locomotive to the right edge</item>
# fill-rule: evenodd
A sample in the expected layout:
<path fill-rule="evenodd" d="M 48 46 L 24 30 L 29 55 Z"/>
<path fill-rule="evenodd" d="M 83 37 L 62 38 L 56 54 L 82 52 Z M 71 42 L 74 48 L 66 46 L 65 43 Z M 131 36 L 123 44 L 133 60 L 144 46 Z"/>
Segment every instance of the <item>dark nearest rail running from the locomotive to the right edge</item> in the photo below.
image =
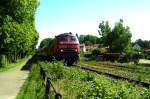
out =
<path fill-rule="evenodd" d="M 77 65 L 77 66 L 84 69 L 84 70 L 97 72 L 99 74 L 107 75 L 107 76 L 112 77 L 114 79 L 127 80 L 127 81 L 135 83 L 137 85 L 142 85 L 143 87 L 147 87 L 147 88 L 150 87 L 149 81 L 146 82 L 146 81 L 133 79 L 132 77 L 117 75 L 115 73 L 109 72 L 108 68 L 102 69 L 102 68 L 99 68 L 98 66 L 88 66 L 87 64 L 82 64 L 82 65 Z M 105 70 L 108 70 L 108 71 L 105 71 Z"/>

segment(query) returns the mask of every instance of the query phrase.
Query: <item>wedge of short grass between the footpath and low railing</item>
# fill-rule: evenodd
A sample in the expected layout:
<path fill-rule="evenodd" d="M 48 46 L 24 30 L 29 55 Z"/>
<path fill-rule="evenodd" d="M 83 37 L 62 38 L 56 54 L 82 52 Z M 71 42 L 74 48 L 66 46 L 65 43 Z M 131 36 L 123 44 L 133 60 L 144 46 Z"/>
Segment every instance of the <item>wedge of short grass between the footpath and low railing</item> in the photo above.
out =
<path fill-rule="evenodd" d="M 44 91 L 45 88 L 40 79 L 39 67 L 34 64 L 16 99 L 44 99 Z"/>

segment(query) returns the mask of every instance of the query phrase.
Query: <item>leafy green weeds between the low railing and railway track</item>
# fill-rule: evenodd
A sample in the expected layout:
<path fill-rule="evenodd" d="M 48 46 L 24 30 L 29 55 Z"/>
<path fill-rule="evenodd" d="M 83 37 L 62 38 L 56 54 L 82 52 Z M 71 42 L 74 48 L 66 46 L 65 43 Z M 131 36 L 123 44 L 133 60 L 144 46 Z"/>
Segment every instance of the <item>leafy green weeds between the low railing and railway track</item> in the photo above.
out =
<path fill-rule="evenodd" d="M 62 72 L 63 78 L 56 78 L 54 81 L 55 83 L 53 83 L 55 88 L 61 92 L 63 98 L 132 99 L 143 97 L 143 95 L 147 93 L 147 90 L 138 88 L 137 86 L 126 81 L 115 81 L 93 72 L 81 70 L 79 68 L 64 67 L 62 63 L 56 62 L 54 65 L 46 63 L 45 65 L 48 66 L 47 70 L 50 70 L 50 66 L 54 65 L 59 65 L 62 66 L 61 68 L 64 68 L 64 71 Z M 55 75 L 55 72 L 51 73 L 52 71 L 53 70 L 49 71 L 51 76 Z"/>

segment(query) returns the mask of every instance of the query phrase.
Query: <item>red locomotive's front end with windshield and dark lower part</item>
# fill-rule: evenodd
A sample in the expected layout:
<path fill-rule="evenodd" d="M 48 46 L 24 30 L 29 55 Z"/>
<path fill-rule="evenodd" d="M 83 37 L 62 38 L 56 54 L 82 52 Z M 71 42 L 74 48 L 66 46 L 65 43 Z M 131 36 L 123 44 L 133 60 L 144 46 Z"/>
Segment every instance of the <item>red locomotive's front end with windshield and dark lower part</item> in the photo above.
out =
<path fill-rule="evenodd" d="M 65 60 L 67 65 L 76 63 L 79 59 L 79 41 L 76 35 L 70 33 L 60 34 L 56 37 L 56 59 Z"/>

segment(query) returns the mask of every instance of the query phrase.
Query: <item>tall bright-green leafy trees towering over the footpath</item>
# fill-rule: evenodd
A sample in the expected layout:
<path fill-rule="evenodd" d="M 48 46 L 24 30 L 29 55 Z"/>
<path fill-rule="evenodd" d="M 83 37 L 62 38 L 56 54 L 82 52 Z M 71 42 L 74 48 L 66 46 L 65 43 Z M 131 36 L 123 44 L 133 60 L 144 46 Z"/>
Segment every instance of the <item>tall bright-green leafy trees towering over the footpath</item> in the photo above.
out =
<path fill-rule="evenodd" d="M 35 50 L 38 0 L 0 0 L 0 55 L 13 62 Z"/>

